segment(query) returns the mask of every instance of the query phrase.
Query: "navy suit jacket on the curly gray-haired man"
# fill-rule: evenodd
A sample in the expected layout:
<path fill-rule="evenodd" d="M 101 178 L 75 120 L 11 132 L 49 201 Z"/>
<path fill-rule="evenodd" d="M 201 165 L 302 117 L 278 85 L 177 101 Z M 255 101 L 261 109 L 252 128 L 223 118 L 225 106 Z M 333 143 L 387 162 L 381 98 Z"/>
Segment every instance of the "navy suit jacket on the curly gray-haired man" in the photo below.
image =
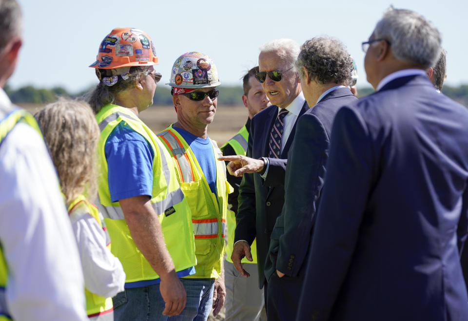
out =
<path fill-rule="evenodd" d="M 331 125 L 338 110 L 355 101 L 357 98 L 349 88 L 335 89 L 297 121 L 288 153 L 286 179 L 283 179 L 285 203 L 276 219 L 265 263 L 267 279 L 276 269 L 288 276 L 297 276 L 304 268 L 325 177 Z M 277 171 L 275 177 L 281 177 L 280 170 Z"/>

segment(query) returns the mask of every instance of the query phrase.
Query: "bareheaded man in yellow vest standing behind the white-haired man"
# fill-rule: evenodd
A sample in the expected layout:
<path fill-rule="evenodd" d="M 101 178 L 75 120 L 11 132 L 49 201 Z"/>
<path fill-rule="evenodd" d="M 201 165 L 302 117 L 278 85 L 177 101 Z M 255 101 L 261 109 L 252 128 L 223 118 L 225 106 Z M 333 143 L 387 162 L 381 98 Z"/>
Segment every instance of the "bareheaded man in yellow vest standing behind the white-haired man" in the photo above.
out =
<path fill-rule="evenodd" d="M 255 74 L 258 73 L 258 66 L 249 70 L 243 77 L 242 102 L 248 110 L 249 118 L 245 125 L 231 138 L 226 144 L 221 146 L 223 156 L 230 155 L 245 155 L 247 151 L 247 141 L 249 140 L 250 120 L 254 115 L 271 105 L 262 84 L 255 79 Z M 226 162 L 229 163 L 229 162 Z M 227 165 L 227 164 L 226 164 Z M 228 203 L 229 211 L 227 214 L 228 224 L 228 243 L 226 245 L 226 261 L 224 263 L 224 280 L 226 283 L 226 321 L 228 320 L 267 320 L 265 311 L 265 300 L 263 289 L 258 288 L 258 271 L 257 271 L 257 253 L 256 242 L 251 246 L 252 259 L 250 262 L 247 258 L 242 259 L 245 270 L 250 274 L 250 280 L 244 278 L 235 269 L 231 254 L 233 253 L 234 245 L 234 230 L 235 230 L 235 214 L 237 213 L 237 196 L 239 196 L 239 185 L 242 177 L 235 177 L 227 174 L 228 182 L 234 188 L 234 192 L 229 194 Z M 255 281 L 256 280 L 256 281 Z M 234 295 L 234 293 L 245 293 L 244 296 Z"/>

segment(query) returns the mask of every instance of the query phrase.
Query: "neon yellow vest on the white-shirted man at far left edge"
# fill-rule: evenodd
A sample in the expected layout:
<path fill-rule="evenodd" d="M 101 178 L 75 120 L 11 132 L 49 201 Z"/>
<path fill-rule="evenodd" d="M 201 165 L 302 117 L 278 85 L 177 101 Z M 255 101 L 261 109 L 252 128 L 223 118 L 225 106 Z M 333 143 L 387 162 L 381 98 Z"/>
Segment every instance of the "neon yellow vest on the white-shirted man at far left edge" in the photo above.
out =
<path fill-rule="evenodd" d="M 42 137 L 42 133 L 40 132 L 38 123 L 30 113 L 22 109 L 13 109 L 3 119 L 0 120 L 0 146 L 3 139 L 19 122 L 28 124 L 29 126 L 34 128 Z M 0 244 L 0 321 L 12 320 L 10 312 L 8 311 L 8 306 L 6 305 L 5 298 L 5 288 L 7 286 L 7 280 L 8 265 L 5 262 L 5 257 L 3 256 L 3 250 Z"/>

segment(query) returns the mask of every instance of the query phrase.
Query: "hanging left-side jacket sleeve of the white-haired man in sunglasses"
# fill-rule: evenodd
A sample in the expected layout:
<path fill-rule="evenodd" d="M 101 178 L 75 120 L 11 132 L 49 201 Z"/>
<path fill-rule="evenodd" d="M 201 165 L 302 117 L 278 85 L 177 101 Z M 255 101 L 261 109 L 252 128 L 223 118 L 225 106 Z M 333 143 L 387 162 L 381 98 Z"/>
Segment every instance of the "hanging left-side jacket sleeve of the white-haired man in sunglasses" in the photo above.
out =
<path fill-rule="evenodd" d="M 246 153 L 247 157 L 252 157 L 252 145 L 255 137 L 254 121 L 252 121 L 250 126 Z M 239 196 L 237 198 L 238 208 L 235 215 L 236 226 L 234 231 L 234 243 L 239 240 L 245 240 L 249 245 L 252 245 L 256 236 L 254 175 L 258 174 L 244 174 L 239 186 Z"/>

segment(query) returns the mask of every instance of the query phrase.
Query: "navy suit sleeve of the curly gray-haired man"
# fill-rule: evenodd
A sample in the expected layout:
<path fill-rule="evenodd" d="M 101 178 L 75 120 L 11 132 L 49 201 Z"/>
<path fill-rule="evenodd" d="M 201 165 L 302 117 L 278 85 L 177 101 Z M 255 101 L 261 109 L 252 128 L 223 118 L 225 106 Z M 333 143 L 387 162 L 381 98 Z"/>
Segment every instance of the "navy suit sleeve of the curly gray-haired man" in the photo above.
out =
<path fill-rule="evenodd" d="M 297 276 L 309 249 L 329 145 L 328 134 L 320 120 L 313 114 L 302 115 L 288 155 L 284 232 L 279 238 L 276 261 L 276 269 L 289 276 Z"/>

